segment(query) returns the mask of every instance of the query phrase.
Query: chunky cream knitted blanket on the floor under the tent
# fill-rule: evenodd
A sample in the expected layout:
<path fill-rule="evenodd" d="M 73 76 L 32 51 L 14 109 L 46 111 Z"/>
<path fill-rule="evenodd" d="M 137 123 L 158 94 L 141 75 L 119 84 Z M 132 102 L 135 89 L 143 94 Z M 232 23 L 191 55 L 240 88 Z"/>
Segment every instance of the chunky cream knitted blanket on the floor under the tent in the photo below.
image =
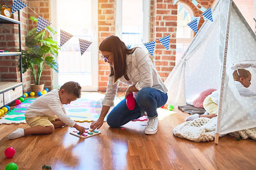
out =
<path fill-rule="evenodd" d="M 200 117 L 176 126 L 173 132 L 176 137 L 185 138 L 194 142 L 213 141 L 216 124 L 217 117 Z M 256 128 L 240 130 L 229 134 L 237 138 L 247 139 L 250 137 L 256 140 Z"/>

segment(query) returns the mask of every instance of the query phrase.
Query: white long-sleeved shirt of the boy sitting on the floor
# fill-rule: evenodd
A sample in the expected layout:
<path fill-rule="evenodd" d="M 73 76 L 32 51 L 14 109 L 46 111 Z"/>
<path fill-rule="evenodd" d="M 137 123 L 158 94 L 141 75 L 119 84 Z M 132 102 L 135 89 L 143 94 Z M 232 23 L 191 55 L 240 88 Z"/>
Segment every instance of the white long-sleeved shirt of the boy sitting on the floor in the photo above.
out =
<path fill-rule="evenodd" d="M 75 121 L 67 116 L 64 105 L 60 102 L 59 90 L 57 89 L 38 97 L 38 99 L 27 108 L 25 113 L 25 117 L 55 115 L 69 127 L 73 127 L 76 124 Z"/>

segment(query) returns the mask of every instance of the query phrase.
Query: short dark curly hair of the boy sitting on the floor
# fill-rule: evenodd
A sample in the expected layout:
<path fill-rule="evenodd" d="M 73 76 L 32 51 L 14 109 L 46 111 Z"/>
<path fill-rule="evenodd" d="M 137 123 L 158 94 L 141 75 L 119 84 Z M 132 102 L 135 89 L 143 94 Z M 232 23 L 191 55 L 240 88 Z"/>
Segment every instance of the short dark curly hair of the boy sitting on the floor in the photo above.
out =
<path fill-rule="evenodd" d="M 73 94 L 77 98 L 81 97 L 81 86 L 77 82 L 67 82 L 60 87 L 60 90 L 64 89 L 68 94 Z"/>

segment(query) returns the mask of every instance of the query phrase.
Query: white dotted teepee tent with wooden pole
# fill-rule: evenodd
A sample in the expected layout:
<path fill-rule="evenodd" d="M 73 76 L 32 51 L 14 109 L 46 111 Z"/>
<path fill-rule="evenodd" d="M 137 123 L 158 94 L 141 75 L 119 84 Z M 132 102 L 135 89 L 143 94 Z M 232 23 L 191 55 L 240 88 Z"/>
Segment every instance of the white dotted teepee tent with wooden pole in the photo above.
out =
<path fill-rule="evenodd" d="M 218 134 L 256 127 L 256 96 L 242 97 L 234 84 L 234 69 L 251 73 L 256 92 L 256 36 L 232 0 L 219 0 L 213 22 L 206 20 L 164 82 L 167 104 L 185 105 L 209 88 L 220 90 Z"/>

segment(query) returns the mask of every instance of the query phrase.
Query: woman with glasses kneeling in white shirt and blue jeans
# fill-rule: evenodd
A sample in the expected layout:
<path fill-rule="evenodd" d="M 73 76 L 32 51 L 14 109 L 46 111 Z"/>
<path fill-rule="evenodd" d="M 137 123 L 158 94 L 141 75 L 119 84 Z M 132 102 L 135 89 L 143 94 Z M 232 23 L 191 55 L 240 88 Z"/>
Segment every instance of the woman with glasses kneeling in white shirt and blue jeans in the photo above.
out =
<path fill-rule="evenodd" d="M 114 105 L 118 84 L 130 85 L 123 99 L 107 117 L 110 127 L 119 127 L 143 116 L 148 117 L 146 134 L 155 134 L 158 130 L 158 113 L 156 108 L 167 101 L 167 88 L 157 73 L 148 53 L 141 48 L 128 49 L 117 36 L 109 36 L 99 47 L 102 58 L 110 65 L 110 74 L 105 98 L 102 101 L 100 117 L 90 125 L 92 130 L 101 128 L 106 114 Z M 135 108 L 130 111 L 126 105 L 126 97 L 133 92 Z"/>

